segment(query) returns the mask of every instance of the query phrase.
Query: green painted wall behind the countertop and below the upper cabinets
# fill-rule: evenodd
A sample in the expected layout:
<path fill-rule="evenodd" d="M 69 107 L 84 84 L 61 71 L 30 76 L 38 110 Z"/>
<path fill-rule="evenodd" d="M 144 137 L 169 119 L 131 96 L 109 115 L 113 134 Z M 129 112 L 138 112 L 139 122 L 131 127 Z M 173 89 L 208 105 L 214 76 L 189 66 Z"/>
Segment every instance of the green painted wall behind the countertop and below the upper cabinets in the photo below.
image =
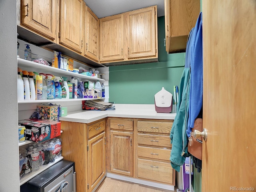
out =
<path fill-rule="evenodd" d="M 180 85 L 185 53 L 167 54 L 164 16 L 158 17 L 158 62 L 109 67 L 109 101 L 120 104 L 154 104 L 164 87 L 173 94 Z"/>

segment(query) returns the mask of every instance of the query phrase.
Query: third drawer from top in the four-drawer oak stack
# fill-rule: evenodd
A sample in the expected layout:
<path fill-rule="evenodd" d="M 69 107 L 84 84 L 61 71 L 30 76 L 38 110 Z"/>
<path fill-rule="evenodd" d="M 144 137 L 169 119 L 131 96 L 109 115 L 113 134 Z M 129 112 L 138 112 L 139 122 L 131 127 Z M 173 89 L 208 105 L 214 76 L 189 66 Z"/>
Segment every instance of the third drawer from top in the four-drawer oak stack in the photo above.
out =
<path fill-rule="evenodd" d="M 170 160 L 170 149 L 138 146 L 138 156 L 160 160 Z"/>

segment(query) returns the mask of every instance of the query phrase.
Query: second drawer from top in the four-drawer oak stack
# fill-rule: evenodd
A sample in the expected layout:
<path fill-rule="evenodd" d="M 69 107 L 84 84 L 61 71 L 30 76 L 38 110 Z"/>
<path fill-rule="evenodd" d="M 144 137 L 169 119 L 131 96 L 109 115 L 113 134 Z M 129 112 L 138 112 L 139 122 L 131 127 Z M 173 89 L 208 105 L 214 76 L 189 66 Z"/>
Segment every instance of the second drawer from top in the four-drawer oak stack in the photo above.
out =
<path fill-rule="evenodd" d="M 138 144 L 171 147 L 170 136 L 138 133 Z"/>

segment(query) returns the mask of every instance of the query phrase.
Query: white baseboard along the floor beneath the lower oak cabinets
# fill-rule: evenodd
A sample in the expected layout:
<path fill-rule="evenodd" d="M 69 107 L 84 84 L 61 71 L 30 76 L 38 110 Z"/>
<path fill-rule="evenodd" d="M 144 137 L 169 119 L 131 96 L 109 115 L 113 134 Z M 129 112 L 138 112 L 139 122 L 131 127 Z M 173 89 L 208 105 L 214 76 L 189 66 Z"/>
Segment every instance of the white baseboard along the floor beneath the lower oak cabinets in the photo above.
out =
<path fill-rule="evenodd" d="M 157 188 L 161 188 L 161 189 L 174 191 L 173 185 L 160 184 L 160 183 L 156 183 L 156 182 L 150 182 L 150 181 L 146 181 L 146 180 L 142 180 L 142 179 L 126 177 L 126 176 L 112 174 L 112 173 L 107 173 L 106 176 L 109 178 L 113 178 L 113 179 L 119 179 L 119 180 L 124 180 L 124 181 L 128 181 L 128 182 L 133 182 L 133 183 L 138 183 L 138 184 L 142 184 L 142 185 L 147 185 L 147 186 L 152 186 L 152 187 L 157 187 Z"/>

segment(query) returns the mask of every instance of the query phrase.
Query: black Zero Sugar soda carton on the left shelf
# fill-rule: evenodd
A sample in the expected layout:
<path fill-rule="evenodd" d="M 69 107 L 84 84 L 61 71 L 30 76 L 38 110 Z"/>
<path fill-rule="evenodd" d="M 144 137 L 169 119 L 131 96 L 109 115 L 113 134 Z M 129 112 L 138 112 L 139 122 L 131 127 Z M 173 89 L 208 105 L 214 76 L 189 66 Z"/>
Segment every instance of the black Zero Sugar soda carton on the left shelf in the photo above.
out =
<path fill-rule="evenodd" d="M 35 121 L 19 121 L 19 124 L 24 125 L 26 128 L 25 140 L 41 143 L 50 139 L 50 124 L 44 124 Z"/>

